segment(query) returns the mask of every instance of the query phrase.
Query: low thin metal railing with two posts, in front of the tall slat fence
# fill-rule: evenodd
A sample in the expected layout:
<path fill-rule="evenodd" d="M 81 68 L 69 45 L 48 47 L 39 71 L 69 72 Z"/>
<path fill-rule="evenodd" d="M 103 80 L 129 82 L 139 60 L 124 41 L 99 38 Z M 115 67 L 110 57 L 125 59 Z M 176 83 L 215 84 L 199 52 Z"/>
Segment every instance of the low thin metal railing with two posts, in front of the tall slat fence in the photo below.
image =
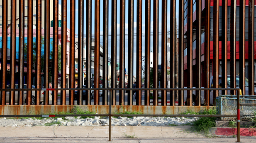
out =
<path fill-rule="evenodd" d="M 47 90 L 47 91 L 65 91 L 65 90 L 78 90 L 78 91 L 82 91 L 82 90 L 86 90 L 86 91 L 90 91 L 90 90 L 109 90 L 110 91 L 110 104 L 109 104 L 109 114 L 83 114 L 83 115 L 78 115 L 78 114 L 73 114 L 73 115 L 0 115 L 0 117 L 70 117 L 70 116 L 108 116 L 109 117 L 109 140 L 111 141 L 111 117 L 237 117 L 237 142 L 240 142 L 240 103 L 239 103 L 239 96 L 241 94 L 241 89 L 228 89 L 231 91 L 236 91 L 237 92 L 237 115 L 166 115 L 166 114 L 147 114 L 147 115 L 127 115 L 127 114 L 112 114 L 111 109 L 112 109 L 112 91 L 117 91 L 117 90 L 127 90 L 127 91 L 141 91 L 141 90 L 160 90 L 160 91 L 166 91 L 166 90 L 177 90 L 177 91 L 191 91 L 191 90 L 195 90 L 195 91 L 202 91 L 202 90 L 213 90 L 213 91 L 218 91 L 218 90 L 227 90 L 224 88 L 219 88 L 219 89 L 202 89 L 202 88 L 183 88 L 183 89 L 138 89 L 138 88 L 134 88 L 134 89 L 125 89 L 125 88 L 103 88 L 103 89 L 96 89 L 96 88 L 91 88 L 91 89 L 0 89 L 0 91 L 14 91 L 14 90 L 18 90 L 18 91 L 41 91 L 41 90 Z"/>

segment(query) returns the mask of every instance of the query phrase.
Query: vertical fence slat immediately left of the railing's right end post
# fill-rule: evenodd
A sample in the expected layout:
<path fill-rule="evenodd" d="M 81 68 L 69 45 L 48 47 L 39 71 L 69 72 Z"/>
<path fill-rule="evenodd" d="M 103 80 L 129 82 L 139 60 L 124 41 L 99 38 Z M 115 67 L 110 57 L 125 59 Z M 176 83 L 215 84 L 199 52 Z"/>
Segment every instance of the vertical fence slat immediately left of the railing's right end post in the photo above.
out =
<path fill-rule="evenodd" d="M 230 88 L 236 87 L 236 0 L 231 1 L 230 7 Z M 236 95 L 235 91 L 231 91 Z"/>

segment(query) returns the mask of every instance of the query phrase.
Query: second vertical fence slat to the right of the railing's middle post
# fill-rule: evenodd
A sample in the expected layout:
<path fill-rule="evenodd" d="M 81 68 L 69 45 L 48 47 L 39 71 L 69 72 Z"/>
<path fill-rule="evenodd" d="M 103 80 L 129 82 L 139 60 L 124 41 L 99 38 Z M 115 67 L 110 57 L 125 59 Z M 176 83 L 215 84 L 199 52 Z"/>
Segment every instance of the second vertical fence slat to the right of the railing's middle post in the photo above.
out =
<path fill-rule="evenodd" d="M 124 57 L 125 57 L 125 0 L 120 0 L 120 68 L 119 68 L 119 88 L 125 88 L 124 79 Z M 124 105 L 124 91 L 119 90 L 119 105 Z"/>

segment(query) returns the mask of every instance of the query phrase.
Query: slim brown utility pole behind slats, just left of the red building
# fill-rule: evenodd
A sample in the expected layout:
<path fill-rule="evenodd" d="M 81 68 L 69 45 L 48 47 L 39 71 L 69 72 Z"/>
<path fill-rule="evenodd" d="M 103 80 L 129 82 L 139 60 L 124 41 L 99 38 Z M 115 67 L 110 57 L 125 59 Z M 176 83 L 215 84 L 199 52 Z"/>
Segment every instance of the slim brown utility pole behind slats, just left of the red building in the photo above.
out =
<path fill-rule="evenodd" d="M 178 38 L 177 38 L 177 18 L 175 20 L 175 88 L 178 88 Z M 178 101 L 178 90 L 174 91 L 175 101 Z"/>

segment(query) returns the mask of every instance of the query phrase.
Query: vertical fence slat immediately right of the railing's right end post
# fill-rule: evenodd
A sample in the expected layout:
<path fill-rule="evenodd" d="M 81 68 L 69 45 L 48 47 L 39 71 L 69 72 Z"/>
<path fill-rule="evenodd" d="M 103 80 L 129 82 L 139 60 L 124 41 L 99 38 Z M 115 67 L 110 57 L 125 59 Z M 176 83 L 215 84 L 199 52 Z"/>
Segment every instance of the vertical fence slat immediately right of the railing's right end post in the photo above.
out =
<path fill-rule="evenodd" d="M 239 85 L 245 85 L 245 0 L 239 6 Z M 245 95 L 245 86 L 239 86 Z"/>

